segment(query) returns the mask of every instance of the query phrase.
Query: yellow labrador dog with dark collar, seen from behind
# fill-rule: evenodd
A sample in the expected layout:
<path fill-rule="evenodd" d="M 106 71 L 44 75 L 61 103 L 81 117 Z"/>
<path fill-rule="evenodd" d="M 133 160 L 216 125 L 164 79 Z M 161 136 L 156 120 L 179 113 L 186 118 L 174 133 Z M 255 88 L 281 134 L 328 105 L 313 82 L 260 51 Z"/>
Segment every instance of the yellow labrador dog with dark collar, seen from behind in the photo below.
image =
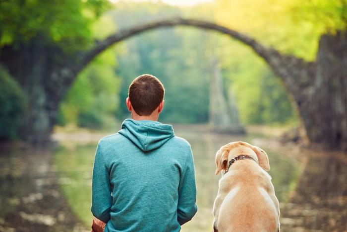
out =
<path fill-rule="evenodd" d="M 214 232 L 279 232 L 280 207 L 271 183 L 268 155 L 256 146 L 233 142 L 216 154 L 222 170 L 213 206 Z"/>

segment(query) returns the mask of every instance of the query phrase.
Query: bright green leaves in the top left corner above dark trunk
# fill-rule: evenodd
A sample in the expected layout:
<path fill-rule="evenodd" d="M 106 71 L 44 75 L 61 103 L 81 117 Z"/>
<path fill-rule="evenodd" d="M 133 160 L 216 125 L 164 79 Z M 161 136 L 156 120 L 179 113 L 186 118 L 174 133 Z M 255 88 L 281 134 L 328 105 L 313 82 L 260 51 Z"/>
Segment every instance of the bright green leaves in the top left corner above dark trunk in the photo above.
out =
<path fill-rule="evenodd" d="M 91 22 L 109 4 L 108 0 L 2 0 L 0 47 L 40 35 L 65 51 L 81 49 L 92 38 Z"/>

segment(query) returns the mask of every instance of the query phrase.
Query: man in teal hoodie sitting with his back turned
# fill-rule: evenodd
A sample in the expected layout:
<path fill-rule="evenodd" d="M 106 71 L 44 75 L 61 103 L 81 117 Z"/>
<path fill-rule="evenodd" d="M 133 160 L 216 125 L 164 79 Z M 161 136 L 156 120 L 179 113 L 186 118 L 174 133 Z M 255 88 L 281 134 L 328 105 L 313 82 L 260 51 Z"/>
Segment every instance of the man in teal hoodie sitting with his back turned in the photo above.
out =
<path fill-rule="evenodd" d="M 157 121 L 164 93 L 157 77 L 134 79 L 126 98 L 131 119 L 117 134 L 99 141 L 93 168 L 93 228 L 178 232 L 195 215 L 190 145 L 174 135 L 171 125 Z"/>

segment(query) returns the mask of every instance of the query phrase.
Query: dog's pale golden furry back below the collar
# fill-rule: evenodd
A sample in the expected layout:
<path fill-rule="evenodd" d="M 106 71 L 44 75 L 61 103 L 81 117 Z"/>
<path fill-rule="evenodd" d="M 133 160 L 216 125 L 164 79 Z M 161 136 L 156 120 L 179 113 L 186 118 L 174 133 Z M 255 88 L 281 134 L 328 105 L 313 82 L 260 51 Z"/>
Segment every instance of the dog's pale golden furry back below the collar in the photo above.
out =
<path fill-rule="evenodd" d="M 234 163 L 230 173 L 221 179 L 220 188 L 230 191 L 219 209 L 219 232 L 279 230 L 278 200 L 271 177 L 256 162 Z"/>

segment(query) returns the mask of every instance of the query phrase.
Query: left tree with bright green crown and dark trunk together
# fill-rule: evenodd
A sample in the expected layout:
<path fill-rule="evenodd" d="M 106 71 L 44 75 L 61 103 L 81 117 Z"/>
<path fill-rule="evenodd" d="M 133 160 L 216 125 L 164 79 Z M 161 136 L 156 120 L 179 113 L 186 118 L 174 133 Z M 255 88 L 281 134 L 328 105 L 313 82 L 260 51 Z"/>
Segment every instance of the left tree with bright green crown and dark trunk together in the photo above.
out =
<path fill-rule="evenodd" d="M 107 5 L 107 0 L 0 1 L 0 62 L 24 93 L 23 139 L 50 138 L 66 86 L 77 75 L 71 66 L 91 44 L 90 25 Z"/>

